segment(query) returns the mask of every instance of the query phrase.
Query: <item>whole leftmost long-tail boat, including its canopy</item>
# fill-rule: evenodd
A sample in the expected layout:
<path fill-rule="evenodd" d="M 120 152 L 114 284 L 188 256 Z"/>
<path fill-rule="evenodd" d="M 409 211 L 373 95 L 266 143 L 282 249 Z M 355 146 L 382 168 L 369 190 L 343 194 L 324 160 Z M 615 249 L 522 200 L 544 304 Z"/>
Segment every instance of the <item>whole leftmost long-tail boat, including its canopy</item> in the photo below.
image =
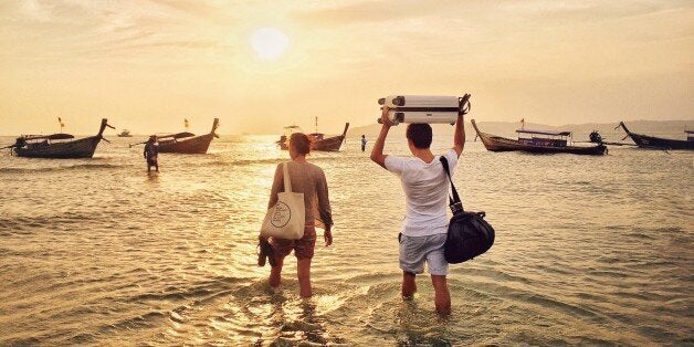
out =
<path fill-rule="evenodd" d="M 98 134 L 91 137 L 85 137 L 72 141 L 59 141 L 74 138 L 70 134 L 53 134 L 53 135 L 23 135 L 17 138 L 14 145 L 8 146 L 12 148 L 12 153 L 18 157 L 27 158 L 55 158 L 55 159 L 77 159 L 77 158 L 92 158 L 96 146 L 104 138 L 104 129 L 109 127 L 106 118 L 102 119 L 102 125 L 98 129 Z"/>

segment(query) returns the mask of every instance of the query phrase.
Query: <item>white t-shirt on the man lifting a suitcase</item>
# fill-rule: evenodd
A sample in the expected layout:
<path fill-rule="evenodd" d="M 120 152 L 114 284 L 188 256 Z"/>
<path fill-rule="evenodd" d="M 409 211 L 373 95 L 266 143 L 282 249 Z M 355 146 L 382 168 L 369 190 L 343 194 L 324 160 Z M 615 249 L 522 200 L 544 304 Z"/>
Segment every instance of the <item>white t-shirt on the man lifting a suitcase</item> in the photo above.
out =
<path fill-rule="evenodd" d="M 443 155 L 449 160 L 451 175 L 455 172 L 458 154 L 454 149 Z M 427 164 L 420 158 L 386 157 L 386 169 L 398 176 L 407 198 L 407 214 L 402 233 L 425 236 L 446 233 L 449 229 L 449 188 L 439 156 Z"/>

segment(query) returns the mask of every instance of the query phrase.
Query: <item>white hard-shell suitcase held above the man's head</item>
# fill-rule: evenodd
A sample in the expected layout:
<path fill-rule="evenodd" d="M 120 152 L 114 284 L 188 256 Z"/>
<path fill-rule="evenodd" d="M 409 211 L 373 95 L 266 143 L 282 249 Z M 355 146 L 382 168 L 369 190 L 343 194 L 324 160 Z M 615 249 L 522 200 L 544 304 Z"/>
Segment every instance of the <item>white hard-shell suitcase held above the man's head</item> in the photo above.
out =
<path fill-rule="evenodd" d="M 470 111 L 470 94 L 463 97 L 441 95 L 390 95 L 378 103 L 387 106 L 388 118 L 400 123 L 448 123 L 455 124 L 460 114 Z M 378 119 L 380 123 L 380 118 Z"/>

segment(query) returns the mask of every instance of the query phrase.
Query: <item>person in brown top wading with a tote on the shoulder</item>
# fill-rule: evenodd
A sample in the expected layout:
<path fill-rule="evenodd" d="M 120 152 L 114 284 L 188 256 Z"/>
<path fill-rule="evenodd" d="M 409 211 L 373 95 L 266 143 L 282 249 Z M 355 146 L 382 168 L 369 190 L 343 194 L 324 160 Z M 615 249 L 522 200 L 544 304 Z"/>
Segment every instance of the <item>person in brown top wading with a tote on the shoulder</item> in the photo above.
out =
<path fill-rule="evenodd" d="M 270 265 L 270 286 L 280 287 L 282 277 L 282 265 L 284 257 L 292 250 L 297 260 L 297 276 L 299 294 L 302 297 L 309 297 L 311 290 L 311 259 L 314 254 L 316 245 L 316 228 L 325 229 L 323 234 L 325 245 L 333 243 L 333 214 L 330 212 L 330 201 L 328 200 L 328 185 L 325 180 L 323 170 L 306 161 L 306 155 L 311 151 L 311 140 L 308 136 L 302 133 L 294 133 L 290 137 L 290 157 L 292 161 L 287 164 L 290 179 L 292 182 L 292 191 L 304 193 L 304 204 L 306 207 L 306 228 L 304 236 L 298 240 L 286 240 L 278 238 L 270 238 L 270 240 L 261 236 L 261 253 L 259 264 L 263 265 L 265 257 L 269 257 Z M 277 192 L 284 190 L 284 176 L 282 164 L 277 165 L 275 177 L 272 183 L 272 192 L 270 193 L 270 202 L 267 208 L 275 206 L 277 202 Z"/>

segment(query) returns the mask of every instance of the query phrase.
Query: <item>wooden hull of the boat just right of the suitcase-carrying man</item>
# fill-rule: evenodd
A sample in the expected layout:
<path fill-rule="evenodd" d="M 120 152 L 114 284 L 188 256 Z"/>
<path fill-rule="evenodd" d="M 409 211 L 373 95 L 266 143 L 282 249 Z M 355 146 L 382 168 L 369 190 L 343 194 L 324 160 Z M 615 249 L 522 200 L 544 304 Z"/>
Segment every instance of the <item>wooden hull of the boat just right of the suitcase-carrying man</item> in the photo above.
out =
<path fill-rule="evenodd" d="M 482 144 L 484 148 L 490 151 L 527 151 L 535 154 L 555 154 L 555 153 L 566 153 L 572 155 L 588 155 L 588 156 L 601 156 L 607 151 L 607 146 L 598 145 L 590 147 L 579 147 L 579 146 L 562 146 L 562 147 L 550 147 L 550 146 L 533 146 L 522 144 L 518 140 L 505 138 L 501 136 L 494 136 L 486 133 L 482 133 L 475 120 L 472 119 L 472 126 L 475 128 L 477 136 L 482 139 Z"/>

